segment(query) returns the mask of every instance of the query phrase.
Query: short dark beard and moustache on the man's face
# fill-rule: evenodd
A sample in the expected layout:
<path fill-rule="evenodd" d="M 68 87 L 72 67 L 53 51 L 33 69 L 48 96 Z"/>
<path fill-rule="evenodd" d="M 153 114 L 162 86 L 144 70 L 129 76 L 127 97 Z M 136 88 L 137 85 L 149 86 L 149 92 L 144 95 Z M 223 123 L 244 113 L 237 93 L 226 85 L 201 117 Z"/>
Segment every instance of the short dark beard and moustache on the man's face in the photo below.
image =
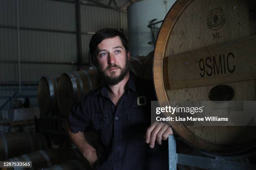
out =
<path fill-rule="evenodd" d="M 113 68 L 113 67 L 117 67 L 117 68 L 119 68 L 121 70 L 119 76 L 111 77 L 111 76 L 107 75 L 108 69 Z M 129 71 L 129 65 L 128 65 L 127 57 L 126 57 L 125 67 L 124 68 L 121 68 L 120 66 L 113 64 L 113 65 L 109 65 L 103 71 L 100 70 L 99 67 L 97 67 L 97 70 L 98 70 L 98 72 L 100 74 L 100 77 L 102 77 L 104 79 L 105 83 L 107 83 L 108 85 L 117 85 L 120 81 L 122 81 L 124 79 L 125 75 L 127 75 L 128 71 Z M 114 73 L 111 72 L 111 75 L 114 75 Z"/>

